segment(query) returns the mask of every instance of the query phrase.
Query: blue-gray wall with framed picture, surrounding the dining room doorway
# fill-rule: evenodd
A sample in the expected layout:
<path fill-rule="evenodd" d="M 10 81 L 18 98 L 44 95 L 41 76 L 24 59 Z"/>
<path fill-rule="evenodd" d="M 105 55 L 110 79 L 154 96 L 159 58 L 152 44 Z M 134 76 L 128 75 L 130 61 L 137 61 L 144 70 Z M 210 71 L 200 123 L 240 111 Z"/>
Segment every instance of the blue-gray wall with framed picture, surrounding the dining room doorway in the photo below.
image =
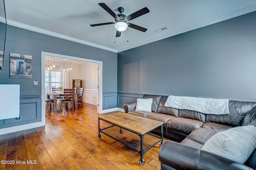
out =
<path fill-rule="evenodd" d="M 20 119 L 0 120 L 0 128 L 41 121 L 41 51 L 102 61 L 103 109 L 117 107 L 116 99 L 108 100 L 117 98 L 117 53 L 8 25 L 0 84 L 20 84 Z M 32 79 L 10 78 L 10 53 L 32 55 Z"/>

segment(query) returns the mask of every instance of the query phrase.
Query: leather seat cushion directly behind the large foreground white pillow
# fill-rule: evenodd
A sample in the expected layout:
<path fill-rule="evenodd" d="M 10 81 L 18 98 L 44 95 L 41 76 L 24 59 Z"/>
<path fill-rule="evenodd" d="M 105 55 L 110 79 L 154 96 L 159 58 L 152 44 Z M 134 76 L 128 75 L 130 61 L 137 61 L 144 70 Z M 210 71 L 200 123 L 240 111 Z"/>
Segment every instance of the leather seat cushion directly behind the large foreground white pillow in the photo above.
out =
<path fill-rule="evenodd" d="M 217 132 L 214 130 L 204 129 L 204 128 L 197 128 L 194 131 L 192 131 L 186 139 L 190 139 L 196 143 L 204 145 L 210 137 L 215 135 Z"/>

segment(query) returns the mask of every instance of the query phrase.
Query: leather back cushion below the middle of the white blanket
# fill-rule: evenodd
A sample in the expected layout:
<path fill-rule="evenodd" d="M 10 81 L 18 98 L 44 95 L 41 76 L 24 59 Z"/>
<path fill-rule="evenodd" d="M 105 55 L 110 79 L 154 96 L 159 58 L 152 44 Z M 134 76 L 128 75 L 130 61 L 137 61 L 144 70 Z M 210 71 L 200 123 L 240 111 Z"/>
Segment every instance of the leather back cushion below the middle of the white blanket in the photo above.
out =
<path fill-rule="evenodd" d="M 184 117 L 188 119 L 194 119 L 198 121 L 205 122 L 206 115 L 192 110 L 179 110 L 178 117 Z"/>

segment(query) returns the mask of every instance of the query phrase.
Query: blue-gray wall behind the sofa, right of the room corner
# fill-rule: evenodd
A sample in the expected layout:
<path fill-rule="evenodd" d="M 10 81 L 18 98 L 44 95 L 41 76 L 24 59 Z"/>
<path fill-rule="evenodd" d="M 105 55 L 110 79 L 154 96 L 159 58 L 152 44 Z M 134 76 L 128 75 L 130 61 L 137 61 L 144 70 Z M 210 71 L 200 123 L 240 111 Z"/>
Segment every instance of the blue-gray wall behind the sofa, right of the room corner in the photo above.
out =
<path fill-rule="evenodd" d="M 256 12 L 118 53 L 118 106 L 142 94 L 256 101 Z"/>

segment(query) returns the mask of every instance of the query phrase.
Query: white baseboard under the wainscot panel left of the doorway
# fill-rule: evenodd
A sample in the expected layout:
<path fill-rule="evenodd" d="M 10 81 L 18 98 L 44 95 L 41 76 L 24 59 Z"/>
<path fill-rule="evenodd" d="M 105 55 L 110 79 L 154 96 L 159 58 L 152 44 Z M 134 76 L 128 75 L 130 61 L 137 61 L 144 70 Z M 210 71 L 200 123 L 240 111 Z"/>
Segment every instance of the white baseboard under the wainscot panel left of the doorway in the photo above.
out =
<path fill-rule="evenodd" d="M 32 128 L 41 127 L 41 126 L 44 126 L 44 125 L 42 125 L 42 122 L 40 121 L 40 122 L 30 123 L 30 124 L 26 124 L 26 125 L 7 127 L 4 129 L 0 129 L 0 135 L 4 135 L 7 133 L 13 133 L 13 132 L 17 132 L 17 131 L 24 131 L 27 129 L 32 129 Z"/>

